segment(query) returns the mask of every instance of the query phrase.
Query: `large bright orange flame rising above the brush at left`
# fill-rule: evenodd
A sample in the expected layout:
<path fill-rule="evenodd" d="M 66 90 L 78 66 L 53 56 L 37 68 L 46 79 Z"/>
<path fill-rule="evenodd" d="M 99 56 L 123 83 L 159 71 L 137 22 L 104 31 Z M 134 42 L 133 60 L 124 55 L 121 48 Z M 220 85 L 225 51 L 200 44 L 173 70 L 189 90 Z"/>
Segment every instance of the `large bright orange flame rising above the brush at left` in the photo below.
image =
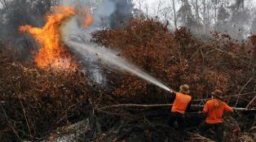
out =
<path fill-rule="evenodd" d="M 61 42 L 60 27 L 64 22 L 75 15 L 71 7 L 56 6 L 55 11 L 46 15 L 46 24 L 43 28 L 33 28 L 29 25 L 20 26 L 20 32 L 29 32 L 41 45 L 34 61 L 40 68 L 70 69 L 77 67 L 72 62 L 73 56 L 64 48 Z"/>

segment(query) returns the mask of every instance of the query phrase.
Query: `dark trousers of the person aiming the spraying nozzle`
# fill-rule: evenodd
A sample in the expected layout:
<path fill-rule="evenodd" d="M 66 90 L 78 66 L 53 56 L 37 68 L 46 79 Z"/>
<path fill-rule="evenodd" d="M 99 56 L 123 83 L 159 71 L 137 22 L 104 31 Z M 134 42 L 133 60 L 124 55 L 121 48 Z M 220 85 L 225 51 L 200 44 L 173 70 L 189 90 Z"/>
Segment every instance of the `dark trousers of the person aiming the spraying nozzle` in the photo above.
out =
<path fill-rule="evenodd" d="M 170 118 L 169 118 L 169 126 L 174 127 L 174 123 L 177 121 L 179 131 L 184 134 L 184 114 L 180 114 L 178 112 L 171 112 Z"/>

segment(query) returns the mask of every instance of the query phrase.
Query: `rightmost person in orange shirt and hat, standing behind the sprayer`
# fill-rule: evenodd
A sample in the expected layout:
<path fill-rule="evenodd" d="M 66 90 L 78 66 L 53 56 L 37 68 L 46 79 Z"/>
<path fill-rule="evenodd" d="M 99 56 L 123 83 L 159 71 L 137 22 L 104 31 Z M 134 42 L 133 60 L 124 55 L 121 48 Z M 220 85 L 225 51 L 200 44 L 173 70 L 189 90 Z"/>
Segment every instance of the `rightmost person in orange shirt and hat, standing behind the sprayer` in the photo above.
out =
<path fill-rule="evenodd" d="M 218 142 L 223 142 L 223 113 L 233 112 L 232 107 L 228 106 L 221 98 L 223 92 L 216 89 L 211 93 L 212 99 L 206 101 L 203 113 L 207 115 L 207 118 L 198 130 L 201 136 L 205 135 L 205 131 L 209 128 L 214 128 L 215 135 L 217 136 Z"/>

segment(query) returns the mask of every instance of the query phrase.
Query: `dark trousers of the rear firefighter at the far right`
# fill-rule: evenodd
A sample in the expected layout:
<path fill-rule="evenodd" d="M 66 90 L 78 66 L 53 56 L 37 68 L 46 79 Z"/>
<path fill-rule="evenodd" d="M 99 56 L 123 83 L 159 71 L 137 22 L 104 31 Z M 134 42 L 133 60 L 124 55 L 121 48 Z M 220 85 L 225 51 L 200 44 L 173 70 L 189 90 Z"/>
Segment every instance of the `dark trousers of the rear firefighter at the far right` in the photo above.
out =
<path fill-rule="evenodd" d="M 204 122 L 201 123 L 201 125 L 198 127 L 198 131 L 201 134 L 201 136 L 204 136 L 205 131 L 207 131 L 210 128 L 214 128 L 217 141 L 223 142 L 223 123 L 209 124 Z"/>

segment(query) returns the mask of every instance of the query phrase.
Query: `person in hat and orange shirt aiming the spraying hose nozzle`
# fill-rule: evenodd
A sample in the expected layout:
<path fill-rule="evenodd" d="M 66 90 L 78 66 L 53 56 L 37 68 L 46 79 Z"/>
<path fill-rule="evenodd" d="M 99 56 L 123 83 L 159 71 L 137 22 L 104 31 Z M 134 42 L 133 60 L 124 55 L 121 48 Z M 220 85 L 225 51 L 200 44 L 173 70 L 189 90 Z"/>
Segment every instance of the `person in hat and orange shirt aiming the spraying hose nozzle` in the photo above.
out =
<path fill-rule="evenodd" d="M 169 126 L 174 127 L 175 121 L 178 123 L 179 132 L 184 135 L 184 114 L 191 105 L 192 97 L 189 94 L 188 84 L 183 84 L 179 87 L 179 93 L 170 91 L 171 100 L 174 100 L 172 107 L 170 107 Z"/>

